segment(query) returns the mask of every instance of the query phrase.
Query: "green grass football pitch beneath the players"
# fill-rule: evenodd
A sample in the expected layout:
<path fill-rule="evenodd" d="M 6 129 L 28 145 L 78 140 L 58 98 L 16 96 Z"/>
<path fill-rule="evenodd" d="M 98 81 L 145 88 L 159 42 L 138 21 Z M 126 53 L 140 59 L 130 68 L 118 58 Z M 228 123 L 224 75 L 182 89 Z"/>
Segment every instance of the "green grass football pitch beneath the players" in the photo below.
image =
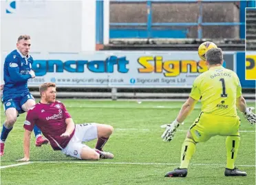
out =
<path fill-rule="evenodd" d="M 76 160 L 53 151 L 50 145 L 36 148 L 34 135 L 31 141 L 32 163 L 21 166 L 15 160 L 23 157 L 22 114 L 6 141 L 5 155 L 1 157 L 2 185 L 34 184 L 255 184 L 255 126 L 242 114 L 241 142 L 237 167 L 248 173 L 247 177 L 225 177 L 226 138 L 216 136 L 208 142 L 197 144 L 195 155 L 186 178 L 167 178 L 164 175 L 179 166 L 180 149 L 186 130 L 200 113 L 200 103 L 185 120 L 171 142 L 163 142 L 161 124 L 172 122 L 183 102 L 92 101 L 62 100 L 74 122 L 111 124 L 114 133 L 105 145 L 105 151 L 114 153 L 113 160 L 96 162 Z M 254 107 L 253 103 L 248 106 Z M 1 109 L 1 123 L 4 120 Z M 96 140 L 87 144 L 94 147 Z"/>

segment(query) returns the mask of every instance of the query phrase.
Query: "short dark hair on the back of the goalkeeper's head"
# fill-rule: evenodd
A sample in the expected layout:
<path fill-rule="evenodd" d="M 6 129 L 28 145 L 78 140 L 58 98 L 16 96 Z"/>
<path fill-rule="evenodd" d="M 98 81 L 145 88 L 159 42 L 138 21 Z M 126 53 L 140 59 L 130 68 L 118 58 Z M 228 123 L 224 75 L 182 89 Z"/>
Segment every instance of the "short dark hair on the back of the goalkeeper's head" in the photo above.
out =
<path fill-rule="evenodd" d="M 212 48 L 206 52 L 206 61 L 210 65 L 221 64 L 223 61 L 223 53 L 220 48 Z"/>

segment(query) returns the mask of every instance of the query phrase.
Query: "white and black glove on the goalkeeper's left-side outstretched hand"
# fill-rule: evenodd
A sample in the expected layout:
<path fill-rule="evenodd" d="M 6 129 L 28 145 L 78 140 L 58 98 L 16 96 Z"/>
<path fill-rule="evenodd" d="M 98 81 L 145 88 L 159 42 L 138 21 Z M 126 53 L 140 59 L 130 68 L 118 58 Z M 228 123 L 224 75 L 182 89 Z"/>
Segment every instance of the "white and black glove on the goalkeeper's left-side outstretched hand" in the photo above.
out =
<path fill-rule="evenodd" d="M 177 120 L 173 121 L 171 124 L 164 124 L 161 126 L 161 128 L 164 128 L 165 131 L 162 133 L 162 140 L 165 142 L 170 142 L 174 135 L 177 128 L 180 126 L 180 122 Z"/>

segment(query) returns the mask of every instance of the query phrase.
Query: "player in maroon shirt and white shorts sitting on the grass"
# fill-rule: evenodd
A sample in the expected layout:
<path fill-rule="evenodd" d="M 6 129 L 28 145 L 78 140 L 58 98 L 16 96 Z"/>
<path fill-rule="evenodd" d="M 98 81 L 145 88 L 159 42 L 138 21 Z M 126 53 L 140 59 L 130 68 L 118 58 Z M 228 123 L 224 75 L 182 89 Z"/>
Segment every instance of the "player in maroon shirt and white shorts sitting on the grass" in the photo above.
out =
<path fill-rule="evenodd" d="M 41 100 L 29 111 L 24 122 L 24 157 L 19 161 L 30 160 L 30 135 L 36 124 L 45 138 L 50 141 L 52 149 L 61 151 L 81 160 L 111 159 L 112 153 L 103 151 L 103 146 L 113 132 L 107 124 L 74 124 L 65 105 L 56 100 L 56 85 L 43 83 L 39 87 Z M 95 149 L 82 142 L 98 138 Z"/>

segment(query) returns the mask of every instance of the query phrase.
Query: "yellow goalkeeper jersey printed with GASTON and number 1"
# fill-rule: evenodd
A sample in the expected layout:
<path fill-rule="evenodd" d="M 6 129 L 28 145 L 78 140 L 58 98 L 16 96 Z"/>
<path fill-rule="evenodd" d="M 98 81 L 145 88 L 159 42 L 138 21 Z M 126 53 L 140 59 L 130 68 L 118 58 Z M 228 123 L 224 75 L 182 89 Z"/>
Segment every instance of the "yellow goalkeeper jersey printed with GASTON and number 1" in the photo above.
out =
<path fill-rule="evenodd" d="M 211 67 L 195 78 L 189 96 L 201 98 L 205 113 L 237 116 L 236 99 L 242 96 L 242 87 L 235 72 L 222 66 Z"/>

